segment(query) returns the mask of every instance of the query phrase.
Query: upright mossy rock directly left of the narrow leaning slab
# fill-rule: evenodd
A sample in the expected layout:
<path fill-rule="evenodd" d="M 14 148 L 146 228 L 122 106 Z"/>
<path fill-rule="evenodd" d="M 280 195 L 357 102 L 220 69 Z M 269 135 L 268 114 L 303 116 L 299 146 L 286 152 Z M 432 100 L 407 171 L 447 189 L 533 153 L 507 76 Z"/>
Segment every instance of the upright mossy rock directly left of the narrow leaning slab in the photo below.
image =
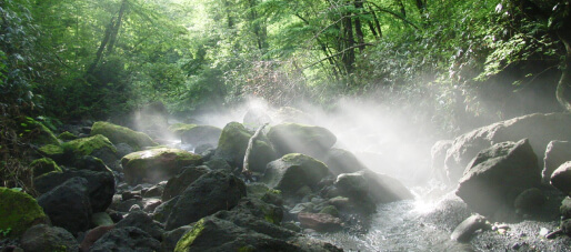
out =
<path fill-rule="evenodd" d="M 231 167 L 241 168 L 243 165 L 248 141 L 251 137 L 252 133 L 241 123 L 228 123 L 220 134 L 214 158 L 227 161 Z"/>

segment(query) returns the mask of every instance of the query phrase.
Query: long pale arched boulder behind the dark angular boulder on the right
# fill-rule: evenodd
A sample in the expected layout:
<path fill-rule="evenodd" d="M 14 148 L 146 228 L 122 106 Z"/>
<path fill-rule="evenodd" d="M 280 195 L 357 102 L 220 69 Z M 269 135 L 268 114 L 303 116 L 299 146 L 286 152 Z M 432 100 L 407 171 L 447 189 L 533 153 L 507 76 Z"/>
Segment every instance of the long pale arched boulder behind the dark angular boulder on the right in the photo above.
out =
<path fill-rule="evenodd" d="M 454 139 L 447 152 L 445 169 L 452 183 L 464 173 L 470 161 L 481 151 L 494 143 L 529 139 L 532 149 L 541 153 L 538 164 L 542 167 L 543 152 L 552 140 L 571 140 L 571 114 L 534 113 L 493 123 L 462 134 Z"/>

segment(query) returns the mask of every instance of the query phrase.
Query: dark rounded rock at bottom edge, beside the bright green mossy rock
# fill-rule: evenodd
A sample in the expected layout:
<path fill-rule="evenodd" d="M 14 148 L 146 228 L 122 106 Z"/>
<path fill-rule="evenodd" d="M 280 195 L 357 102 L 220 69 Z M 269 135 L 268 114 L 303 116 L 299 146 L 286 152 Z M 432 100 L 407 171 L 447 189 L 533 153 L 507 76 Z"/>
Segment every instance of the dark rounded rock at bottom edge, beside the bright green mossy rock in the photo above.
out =
<path fill-rule="evenodd" d="M 34 225 L 23 233 L 20 243 L 24 251 L 79 251 L 78 241 L 64 229 L 46 224 Z"/>

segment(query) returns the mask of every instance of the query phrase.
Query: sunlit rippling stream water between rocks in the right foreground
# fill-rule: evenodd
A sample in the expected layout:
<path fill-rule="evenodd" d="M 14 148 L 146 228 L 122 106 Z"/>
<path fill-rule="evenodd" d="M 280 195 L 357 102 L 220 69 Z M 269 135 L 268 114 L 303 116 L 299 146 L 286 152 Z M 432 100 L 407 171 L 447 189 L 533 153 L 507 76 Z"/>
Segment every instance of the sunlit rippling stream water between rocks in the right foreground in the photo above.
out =
<path fill-rule="evenodd" d="M 427 205 L 400 201 L 379 205 L 370 230 L 364 234 L 315 233 L 312 236 L 345 251 L 473 251 L 470 245 L 450 240 L 450 233 L 423 223 Z"/>

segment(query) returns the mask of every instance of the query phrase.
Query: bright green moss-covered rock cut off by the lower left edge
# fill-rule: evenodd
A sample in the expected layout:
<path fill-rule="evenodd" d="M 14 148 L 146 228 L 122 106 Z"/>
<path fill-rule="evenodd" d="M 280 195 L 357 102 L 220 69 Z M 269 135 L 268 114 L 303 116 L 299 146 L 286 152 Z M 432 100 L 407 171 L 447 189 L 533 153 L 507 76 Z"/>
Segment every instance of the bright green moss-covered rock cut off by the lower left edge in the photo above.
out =
<path fill-rule="evenodd" d="M 31 195 L 0 188 L 0 231 L 10 230 L 8 238 L 18 238 L 30 226 L 47 222 L 48 216 Z"/>

